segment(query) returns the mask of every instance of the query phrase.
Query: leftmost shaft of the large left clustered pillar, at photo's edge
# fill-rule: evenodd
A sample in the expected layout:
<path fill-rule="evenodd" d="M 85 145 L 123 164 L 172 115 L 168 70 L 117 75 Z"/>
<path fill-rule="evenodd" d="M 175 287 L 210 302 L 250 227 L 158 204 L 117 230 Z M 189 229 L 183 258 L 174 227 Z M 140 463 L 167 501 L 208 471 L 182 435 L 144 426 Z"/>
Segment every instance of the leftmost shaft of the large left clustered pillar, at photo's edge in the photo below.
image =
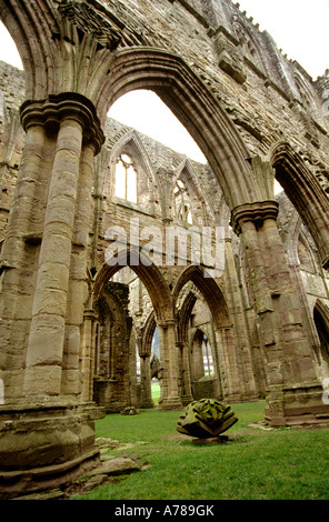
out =
<path fill-rule="evenodd" d="M 53 140 L 36 121 L 27 129 L 1 252 L 0 378 L 9 403 L 23 396 L 26 339 L 32 314 L 34 270 L 42 237 Z"/>

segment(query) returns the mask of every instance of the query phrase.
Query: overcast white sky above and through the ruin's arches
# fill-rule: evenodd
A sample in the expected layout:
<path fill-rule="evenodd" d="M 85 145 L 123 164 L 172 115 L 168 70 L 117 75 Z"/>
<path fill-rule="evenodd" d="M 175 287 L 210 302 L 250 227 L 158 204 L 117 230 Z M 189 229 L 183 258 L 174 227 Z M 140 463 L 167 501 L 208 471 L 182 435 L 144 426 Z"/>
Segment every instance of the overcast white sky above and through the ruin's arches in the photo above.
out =
<path fill-rule="evenodd" d="M 329 0 L 239 0 L 253 22 L 276 40 L 288 58 L 297 60 L 315 79 L 329 68 Z M 16 46 L 0 23 L 0 60 L 22 69 Z M 159 98 L 146 91 L 118 100 L 109 116 L 140 132 L 205 161 L 189 133 Z"/>

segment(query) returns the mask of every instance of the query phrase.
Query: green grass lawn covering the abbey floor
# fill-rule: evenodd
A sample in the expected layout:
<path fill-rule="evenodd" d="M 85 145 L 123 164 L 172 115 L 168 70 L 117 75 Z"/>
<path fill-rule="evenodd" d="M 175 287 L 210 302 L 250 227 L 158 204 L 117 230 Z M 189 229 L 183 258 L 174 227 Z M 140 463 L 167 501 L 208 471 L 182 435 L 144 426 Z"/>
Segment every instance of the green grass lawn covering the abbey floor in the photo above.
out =
<path fill-rule="evenodd" d="M 263 420 L 265 402 L 232 409 L 239 422 L 225 444 L 193 444 L 176 430 L 179 412 L 153 409 L 97 421 L 97 436 L 147 442 L 110 454 L 140 459 L 150 468 L 74 499 L 329 499 L 329 429 L 262 431 L 248 425 Z"/>

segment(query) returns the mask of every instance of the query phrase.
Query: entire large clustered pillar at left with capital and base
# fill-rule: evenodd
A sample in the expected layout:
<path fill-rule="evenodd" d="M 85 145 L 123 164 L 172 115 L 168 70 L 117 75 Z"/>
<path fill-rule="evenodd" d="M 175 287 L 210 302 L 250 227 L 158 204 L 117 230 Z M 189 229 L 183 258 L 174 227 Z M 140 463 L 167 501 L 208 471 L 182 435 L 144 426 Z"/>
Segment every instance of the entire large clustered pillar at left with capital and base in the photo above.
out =
<path fill-rule="evenodd" d="M 92 160 L 102 131 L 92 103 L 74 93 L 26 102 L 21 119 L 27 144 L 4 239 L 0 322 L 0 490 L 8 498 L 93 465 L 93 422 L 103 414 L 90 393 L 81 402 L 79 368 Z M 13 343 L 6 329 L 19 322 Z"/>

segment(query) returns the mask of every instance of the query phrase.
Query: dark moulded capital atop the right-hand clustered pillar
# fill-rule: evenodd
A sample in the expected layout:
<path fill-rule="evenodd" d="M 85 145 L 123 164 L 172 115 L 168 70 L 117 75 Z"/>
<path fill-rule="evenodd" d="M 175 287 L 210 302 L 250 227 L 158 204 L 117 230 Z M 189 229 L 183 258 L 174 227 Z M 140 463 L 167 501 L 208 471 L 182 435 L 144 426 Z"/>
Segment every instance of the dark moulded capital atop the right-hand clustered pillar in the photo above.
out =
<path fill-rule="evenodd" d="M 237 235 L 241 233 L 241 224 L 252 221 L 260 227 L 265 220 L 277 220 L 279 213 L 279 203 L 277 201 L 261 201 L 256 203 L 246 203 L 232 210 L 231 227 Z"/>

